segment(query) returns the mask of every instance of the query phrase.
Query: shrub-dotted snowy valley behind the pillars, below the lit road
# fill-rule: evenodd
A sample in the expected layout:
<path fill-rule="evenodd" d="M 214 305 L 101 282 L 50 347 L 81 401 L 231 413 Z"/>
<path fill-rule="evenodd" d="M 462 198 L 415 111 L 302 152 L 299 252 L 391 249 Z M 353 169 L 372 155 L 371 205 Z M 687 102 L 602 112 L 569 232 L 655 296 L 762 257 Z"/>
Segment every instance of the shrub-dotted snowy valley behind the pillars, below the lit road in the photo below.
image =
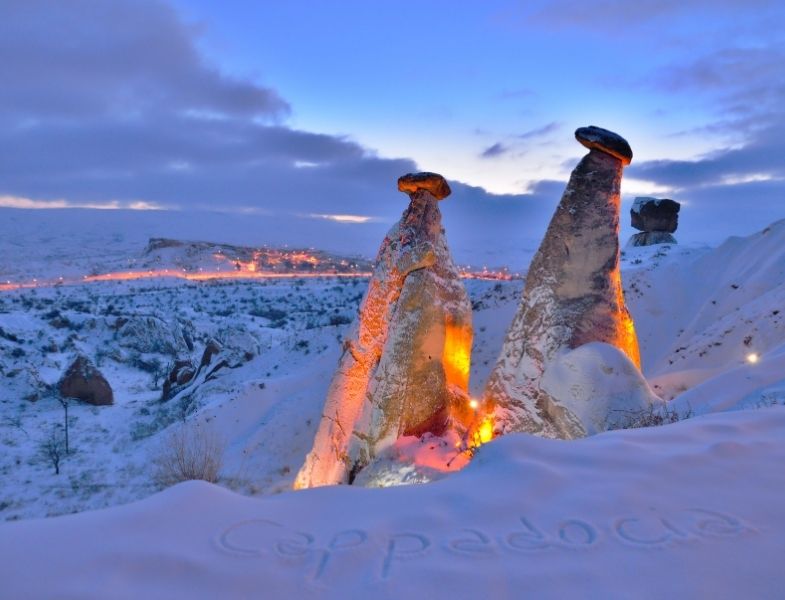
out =
<path fill-rule="evenodd" d="M 225 444 L 223 485 L 252 495 L 290 489 L 365 285 L 160 280 L 0 293 L 0 519 L 102 508 L 155 493 L 153 463 L 181 426 L 207 427 Z M 475 335 L 476 379 L 488 368 L 481 357 L 503 335 L 494 323 L 511 313 L 520 285 L 467 282 L 476 318 L 487 324 Z M 192 349 L 178 331 L 188 332 Z M 197 366 L 211 339 L 241 355 L 233 359 L 239 364 L 209 381 L 197 377 L 162 401 L 173 361 Z M 71 453 L 55 475 L 42 453 L 64 419 L 52 388 L 77 352 L 109 380 L 115 404 L 71 403 Z"/>

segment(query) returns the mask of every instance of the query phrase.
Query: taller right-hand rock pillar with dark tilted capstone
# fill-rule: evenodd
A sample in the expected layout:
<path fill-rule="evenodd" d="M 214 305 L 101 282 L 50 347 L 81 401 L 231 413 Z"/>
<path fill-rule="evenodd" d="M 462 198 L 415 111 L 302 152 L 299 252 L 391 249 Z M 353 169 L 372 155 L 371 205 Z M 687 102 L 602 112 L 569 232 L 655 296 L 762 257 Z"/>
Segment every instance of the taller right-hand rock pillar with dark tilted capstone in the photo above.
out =
<path fill-rule="evenodd" d="M 541 387 L 550 363 L 569 350 L 605 342 L 640 365 L 619 270 L 619 187 L 632 150 L 621 136 L 599 127 L 582 127 L 575 137 L 590 151 L 572 172 L 532 260 L 486 385 L 486 409 L 494 410 L 499 433 L 586 435 L 581 418 Z"/>

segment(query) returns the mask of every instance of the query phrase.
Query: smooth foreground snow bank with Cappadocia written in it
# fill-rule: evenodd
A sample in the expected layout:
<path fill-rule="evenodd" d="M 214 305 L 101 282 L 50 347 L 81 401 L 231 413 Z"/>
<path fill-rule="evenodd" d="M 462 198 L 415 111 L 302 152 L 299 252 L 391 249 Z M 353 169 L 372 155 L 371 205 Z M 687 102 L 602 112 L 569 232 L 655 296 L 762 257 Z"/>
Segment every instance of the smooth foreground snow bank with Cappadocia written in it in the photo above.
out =
<path fill-rule="evenodd" d="M 0 528 L 9 598 L 777 598 L 785 408 L 510 435 L 425 486 L 186 483 Z"/>

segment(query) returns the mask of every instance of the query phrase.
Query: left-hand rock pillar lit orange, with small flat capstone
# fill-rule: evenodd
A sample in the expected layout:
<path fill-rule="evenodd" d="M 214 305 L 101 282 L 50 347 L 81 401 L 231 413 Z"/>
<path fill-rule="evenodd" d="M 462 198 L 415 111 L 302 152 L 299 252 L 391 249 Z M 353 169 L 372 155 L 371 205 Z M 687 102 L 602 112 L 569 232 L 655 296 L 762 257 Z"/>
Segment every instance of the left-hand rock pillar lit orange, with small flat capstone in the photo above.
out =
<path fill-rule="evenodd" d="M 295 487 L 351 482 L 398 437 L 466 430 L 471 304 L 447 249 L 441 175 L 409 174 Z"/>

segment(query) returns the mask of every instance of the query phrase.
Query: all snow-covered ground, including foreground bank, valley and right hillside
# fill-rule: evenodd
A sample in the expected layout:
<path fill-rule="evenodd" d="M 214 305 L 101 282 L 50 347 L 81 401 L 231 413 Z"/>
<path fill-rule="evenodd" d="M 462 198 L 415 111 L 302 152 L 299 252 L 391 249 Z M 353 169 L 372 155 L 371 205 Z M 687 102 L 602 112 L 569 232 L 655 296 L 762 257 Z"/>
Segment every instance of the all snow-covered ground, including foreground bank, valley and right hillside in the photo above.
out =
<path fill-rule="evenodd" d="M 48 251 L 6 238 L 0 266 L 78 276 L 146 243 L 118 241 L 107 258 L 96 236 Z M 785 221 L 718 248 L 625 249 L 623 276 L 644 374 L 692 418 L 577 442 L 507 436 L 426 486 L 296 493 L 365 280 L 1 292 L 0 518 L 21 522 L 0 526 L 0 596 L 422 597 L 449 585 L 458 597 L 776 597 Z M 480 395 L 522 282 L 466 285 Z M 174 360 L 196 367 L 210 340 L 226 366 L 162 401 Z M 55 475 L 41 444 L 63 409 L 49 390 L 77 352 L 115 404 L 70 405 L 72 453 Z M 156 494 L 156 456 L 183 423 L 225 443 L 220 483 L 242 495 L 205 483 Z"/>

